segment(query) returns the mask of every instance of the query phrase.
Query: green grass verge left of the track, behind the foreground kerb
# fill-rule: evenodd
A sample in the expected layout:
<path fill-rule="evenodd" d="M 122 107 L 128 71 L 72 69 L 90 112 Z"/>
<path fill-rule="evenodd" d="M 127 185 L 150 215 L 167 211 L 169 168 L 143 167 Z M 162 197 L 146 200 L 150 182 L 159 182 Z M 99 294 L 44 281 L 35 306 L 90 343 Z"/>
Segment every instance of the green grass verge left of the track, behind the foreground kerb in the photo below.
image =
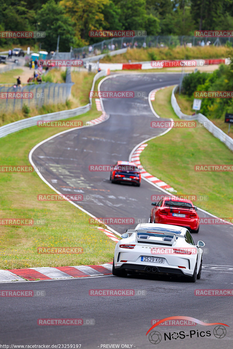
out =
<path fill-rule="evenodd" d="M 93 100 L 91 111 L 66 120 L 82 120 L 85 124 L 100 115 Z M 64 129 L 35 126 L 1 138 L 0 164 L 30 165 L 31 148 Z M 54 191 L 36 173 L 0 173 L 0 186 L 1 218 L 44 222 L 31 227 L 0 225 L 0 269 L 88 265 L 112 260 L 115 243 L 88 223 L 88 215 L 67 201 L 37 200 L 38 194 Z M 39 246 L 82 247 L 83 253 L 38 254 Z"/>

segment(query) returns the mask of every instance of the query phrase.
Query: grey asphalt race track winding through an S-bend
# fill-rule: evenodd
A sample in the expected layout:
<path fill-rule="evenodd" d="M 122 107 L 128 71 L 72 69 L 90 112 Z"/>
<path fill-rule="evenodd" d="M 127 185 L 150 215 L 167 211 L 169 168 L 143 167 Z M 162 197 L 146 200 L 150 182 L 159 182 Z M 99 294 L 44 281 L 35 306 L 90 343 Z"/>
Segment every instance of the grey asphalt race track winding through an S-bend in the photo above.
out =
<path fill-rule="evenodd" d="M 102 91 L 146 91 L 179 83 L 180 74 L 117 74 L 105 79 Z M 140 142 L 159 135 L 165 129 L 152 129 L 156 117 L 148 98 L 103 99 L 107 121 L 52 138 L 32 154 L 36 165 L 43 165 L 43 177 L 63 194 L 82 193 L 76 202 L 96 217 L 132 217 L 136 224 L 147 222 L 151 195 L 163 194 L 141 181 L 140 187 L 111 184 L 109 172 L 90 172 L 89 165 L 114 164 L 128 160 Z M 155 154 L 155 156 L 161 156 Z M 178 161 L 179 163 L 179 161 Z M 204 195 L 205 193 L 203 193 Z M 206 192 L 206 194 L 208 194 Z M 94 196 L 93 200 L 88 199 Z M 209 215 L 198 211 L 200 217 Z M 140 221 L 141 220 L 141 221 Z M 119 233 L 133 225 L 110 225 Z M 232 225 L 202 225 L 193 234 L 195 243 L 205 242 L 201 280 L 188 283 L 182 279 L 158 276 L 90 277 L 71 280 L 2 283 L 1 290 L 44 290 L 44 297 L 0 299 L 0 343 L 81 344 L 81 348 L 232 348 L 231 296 L 194 296 L 195 289 L 232 289 Z M 89 296 L 90 289 L 129 289 L 134 296 Z M 157 326 L 162 334 L 158 344 L 148 340 L 146 332 L 152 319 L 183 315 L 206 323 L 227 324 L 223 338 L 213 335 L 214 326 Z M 94 319 L 89 326 L 38 326 L 40 318 Z M 197 335 L 210 331 L 211 336 Z M 163 333 L 185 332 L 184 339 L 164 340 Z M 190 338 L 190 331 L 196 331 Z M 203 335 L 203 333 L 202 333 Z M 114 344 L 115 346 L 111 346 Z M 124 345 L 124 346 L 122 346 Z M 127 345 L 127 346 L 126 346 Z M 60 347 L 62 348 L 62 346 Z M 64 346 L 65 348 L 65 346 Z M 68 347 L 67 347 L 68 348 Z"/>

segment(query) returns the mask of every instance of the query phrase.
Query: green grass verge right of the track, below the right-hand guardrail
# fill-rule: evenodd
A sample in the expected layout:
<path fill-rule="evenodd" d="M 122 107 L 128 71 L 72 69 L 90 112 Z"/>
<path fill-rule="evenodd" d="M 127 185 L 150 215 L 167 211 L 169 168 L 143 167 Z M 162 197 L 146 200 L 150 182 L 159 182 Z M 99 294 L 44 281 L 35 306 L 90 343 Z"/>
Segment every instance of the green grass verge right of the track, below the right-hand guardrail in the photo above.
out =
<path fill-rule="evenodd" d="M 170 104 L 171 92 L 172 87 L 158 91 L 152 104 L 159 116 L 180 120 Z M 194 171 L 198 164 L 233 163 L 232 151 L 204 127 L 174 128 L 149 141 L 140 161 L 178 194 L 207 195 L 207 201 L 194 202 L 198 207 L 220 217 L 232 217 L 232 173 Z"/>

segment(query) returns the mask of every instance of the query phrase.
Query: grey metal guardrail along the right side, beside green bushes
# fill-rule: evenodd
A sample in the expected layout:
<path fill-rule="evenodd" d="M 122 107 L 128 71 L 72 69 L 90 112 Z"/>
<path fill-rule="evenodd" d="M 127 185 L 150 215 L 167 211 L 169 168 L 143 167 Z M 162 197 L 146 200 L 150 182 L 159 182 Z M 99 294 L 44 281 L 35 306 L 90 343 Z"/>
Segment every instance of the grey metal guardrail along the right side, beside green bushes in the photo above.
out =
<path fill-rule="evenodd" d="M 172 107 L 174 109 L 174 112 L 180 119 L 184 120 L 198 120 L 199 122 L 202 122 L 204 127 L 214 135 L 214 137 L 218 138 L 221 142 L 223 142 L 229 149 L 233 151 L 233 139 L 228 136 L 226 133 L 224 133 L 220 128 L 215 126 L 212 121 L 207 119 L 203 114 L 198 113 L 195 115 L 187 115 L 182 113 L 180 110 L 179 104 L 176 101 L 175 92 L 178 89 L 178 85 L 174 87 L 172 90 L 172 97 L 171 97 L 171 103 Z"/>

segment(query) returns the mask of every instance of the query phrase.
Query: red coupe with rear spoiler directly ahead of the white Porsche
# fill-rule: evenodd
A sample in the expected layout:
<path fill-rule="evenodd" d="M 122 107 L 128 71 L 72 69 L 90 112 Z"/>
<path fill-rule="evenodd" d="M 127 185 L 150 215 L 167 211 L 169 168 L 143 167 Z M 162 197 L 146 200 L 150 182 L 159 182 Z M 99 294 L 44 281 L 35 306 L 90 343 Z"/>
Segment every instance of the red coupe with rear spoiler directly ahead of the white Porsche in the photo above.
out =
<path fill-rule="evenodd" d="M 150 223 L 173 224 L 198 233 L 199 217 L 192 201 L 167 196 L 158 203 L 152 202 Z"/>

